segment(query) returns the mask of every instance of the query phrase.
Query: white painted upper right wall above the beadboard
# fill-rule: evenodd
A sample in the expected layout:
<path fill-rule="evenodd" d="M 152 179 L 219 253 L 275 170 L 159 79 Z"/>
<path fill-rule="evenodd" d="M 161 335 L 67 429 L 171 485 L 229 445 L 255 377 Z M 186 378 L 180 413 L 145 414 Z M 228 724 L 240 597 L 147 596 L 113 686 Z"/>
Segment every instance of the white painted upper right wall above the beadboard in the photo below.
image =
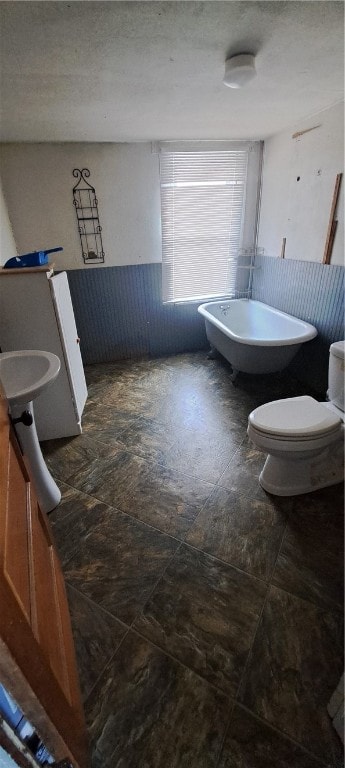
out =
<path fill-rule="evenodd" d="M 280 256 L 286 237 L 285 258 L 322 262 L 335 177 L 343 170 L 343 104 L 265 142 L 258 243 L 267 255 Z M 332 264 L 344 258 L 344 185 L 343 179 Z"/>

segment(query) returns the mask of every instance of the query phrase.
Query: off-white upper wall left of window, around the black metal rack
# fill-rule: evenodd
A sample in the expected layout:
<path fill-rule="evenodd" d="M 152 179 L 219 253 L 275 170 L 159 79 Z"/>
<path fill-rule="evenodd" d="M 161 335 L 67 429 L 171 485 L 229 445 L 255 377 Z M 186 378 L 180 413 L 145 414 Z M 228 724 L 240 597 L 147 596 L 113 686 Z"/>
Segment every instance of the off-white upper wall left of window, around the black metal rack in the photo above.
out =
<path fill-rule="evenodd" d="M 86 167 L 98 197 L 104 266 L 161 261 L 159 166 L 150 144 L 2 144 L 1 167 L 19 253 L 62 245 L 56 268 L 84 268 L 72 171 Z"/>

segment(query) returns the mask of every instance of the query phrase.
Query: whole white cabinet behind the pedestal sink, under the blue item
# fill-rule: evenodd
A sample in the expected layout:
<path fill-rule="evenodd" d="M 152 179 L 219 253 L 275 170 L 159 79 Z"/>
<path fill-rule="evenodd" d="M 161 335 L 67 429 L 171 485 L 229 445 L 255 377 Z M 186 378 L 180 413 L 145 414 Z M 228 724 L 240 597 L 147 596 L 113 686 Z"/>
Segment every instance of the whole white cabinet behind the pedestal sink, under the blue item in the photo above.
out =
<path fill-rule="evenodd" d="M 0 272 L 0 347 L 42 349 L 60 358 L 58 378 L 34 403 L 37 433 L 39 440 L 79 435 L 87 390 L 65 272 Z"/>

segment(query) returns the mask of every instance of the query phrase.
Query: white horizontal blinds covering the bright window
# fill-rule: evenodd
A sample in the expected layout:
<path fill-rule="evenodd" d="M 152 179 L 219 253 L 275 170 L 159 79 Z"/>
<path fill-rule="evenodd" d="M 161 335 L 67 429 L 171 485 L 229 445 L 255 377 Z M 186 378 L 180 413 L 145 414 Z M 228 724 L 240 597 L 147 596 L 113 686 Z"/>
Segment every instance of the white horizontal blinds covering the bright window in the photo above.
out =
<path fill-rule="evenodd" d="M 248 149 L 162 152 L 164 302 L 235 290 L 247 165 Z"/>

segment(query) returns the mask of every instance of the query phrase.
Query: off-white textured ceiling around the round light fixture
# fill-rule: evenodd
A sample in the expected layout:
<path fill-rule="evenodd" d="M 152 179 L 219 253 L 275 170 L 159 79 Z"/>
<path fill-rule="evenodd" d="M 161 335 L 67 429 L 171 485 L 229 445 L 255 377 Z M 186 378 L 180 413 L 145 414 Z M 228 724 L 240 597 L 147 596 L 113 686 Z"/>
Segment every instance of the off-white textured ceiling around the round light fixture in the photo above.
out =
<path fill-rule="evenodd" d="M 342 2 L 0 2 L 4 141 L 265 138 L 343 98 Z M 243 90 L 224 60 L 257 54 Z"/>

